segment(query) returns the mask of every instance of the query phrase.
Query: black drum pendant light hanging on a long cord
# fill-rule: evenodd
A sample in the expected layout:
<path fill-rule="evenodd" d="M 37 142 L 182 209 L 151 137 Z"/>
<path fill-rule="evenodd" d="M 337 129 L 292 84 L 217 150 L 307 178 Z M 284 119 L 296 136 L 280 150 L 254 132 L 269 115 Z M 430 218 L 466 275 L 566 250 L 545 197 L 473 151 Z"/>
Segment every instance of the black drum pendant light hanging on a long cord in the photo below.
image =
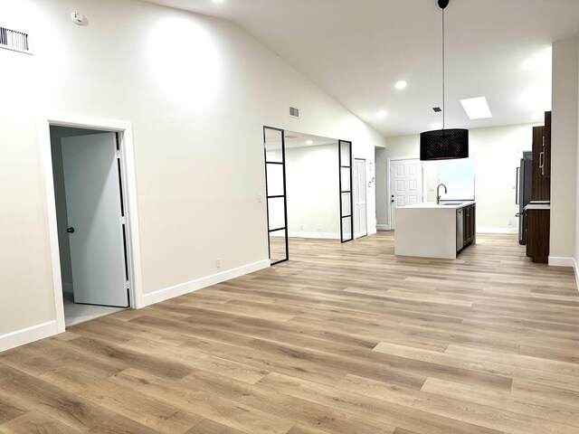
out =
<path fill-rule="evenodd" d="M 445 129 L 445 87 L 444 87 L 444 8 L 449 0 L 438 0 L 442 10 L 442 129 L 425 131 L 420 135 L 420 159 L 449 160 L 469 157 L 469 130 L 463 128 Z"/>

